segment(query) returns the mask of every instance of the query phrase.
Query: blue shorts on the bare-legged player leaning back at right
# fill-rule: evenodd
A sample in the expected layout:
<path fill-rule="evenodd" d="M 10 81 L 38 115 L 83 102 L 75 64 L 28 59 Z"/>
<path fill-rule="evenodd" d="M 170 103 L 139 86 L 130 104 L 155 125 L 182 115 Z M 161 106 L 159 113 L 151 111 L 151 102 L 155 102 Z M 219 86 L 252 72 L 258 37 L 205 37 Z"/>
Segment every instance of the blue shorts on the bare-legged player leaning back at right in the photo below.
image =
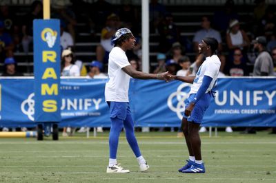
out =
<path fill-rule="evenodd" d="M 193 100 L 193 98 L 195 98 L 195 95 L 196 94 L 190 94 L 188 100 L 186 100 L 185 109 L 190 105 L 190 102 Z M 196 122 L 200 124 L 202 122 L 202 118 L 204 116 L 206 109 L 209 107 L 211 97 L 212 94 L 210 92 L 204 94 L 204 96 L 202 96 L 200 100 L 198 100 L 195 104 L 195 107 L 190 116 L 187 117 L 184 114 L 183 117 L 186 118 L 189 122 Z"/>

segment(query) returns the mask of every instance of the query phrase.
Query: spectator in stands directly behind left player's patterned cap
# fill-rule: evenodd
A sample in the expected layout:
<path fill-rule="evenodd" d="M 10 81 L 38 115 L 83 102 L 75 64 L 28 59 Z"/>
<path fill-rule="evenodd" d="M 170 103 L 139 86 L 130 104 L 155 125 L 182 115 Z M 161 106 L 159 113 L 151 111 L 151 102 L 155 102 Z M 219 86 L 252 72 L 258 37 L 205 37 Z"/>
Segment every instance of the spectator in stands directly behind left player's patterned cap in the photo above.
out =
<path fill-rule="evenodd" d="M 108 63 L 108 54 L 113 48 L 112 39 L 120 26 L 119 17 L 110 14 L 106 19 L 106 27 L 101 30 L 101 44 L 97 46 L 97 61 Z"/>

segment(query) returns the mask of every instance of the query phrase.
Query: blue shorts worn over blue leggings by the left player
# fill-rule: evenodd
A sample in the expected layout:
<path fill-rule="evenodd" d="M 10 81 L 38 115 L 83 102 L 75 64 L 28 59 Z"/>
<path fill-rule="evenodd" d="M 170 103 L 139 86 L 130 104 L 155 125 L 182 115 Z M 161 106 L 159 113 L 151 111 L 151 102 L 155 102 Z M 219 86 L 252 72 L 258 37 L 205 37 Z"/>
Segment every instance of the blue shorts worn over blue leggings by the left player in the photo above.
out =
<path fill-rule="evenodd" d="M 129 103 L 126 102 L 107 102 L 110 111 L 110 118 L 126 120 L 127 115 L 131 115 Z"/>

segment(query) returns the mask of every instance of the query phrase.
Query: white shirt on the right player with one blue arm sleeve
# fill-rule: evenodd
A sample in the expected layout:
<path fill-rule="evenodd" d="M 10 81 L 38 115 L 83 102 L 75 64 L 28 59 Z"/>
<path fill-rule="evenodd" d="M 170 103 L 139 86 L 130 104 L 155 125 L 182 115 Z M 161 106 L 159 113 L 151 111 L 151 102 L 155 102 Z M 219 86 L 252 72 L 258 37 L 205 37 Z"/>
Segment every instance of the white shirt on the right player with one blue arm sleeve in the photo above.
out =
<path fill-rule="evenodd" d="M 219 68 L 219 57 L 217 55 L 208 56 L 204 63 L 202 63 L 202 65 L 199 67 L 194 83 L 190 88 L 190 94 L 197 94 L 199 87 L 202 85 L 204 76 L 210 76 L 213 78 L 205 93 L 210 92 L 217 80 L 217 76 L 219 75 Z"/>

